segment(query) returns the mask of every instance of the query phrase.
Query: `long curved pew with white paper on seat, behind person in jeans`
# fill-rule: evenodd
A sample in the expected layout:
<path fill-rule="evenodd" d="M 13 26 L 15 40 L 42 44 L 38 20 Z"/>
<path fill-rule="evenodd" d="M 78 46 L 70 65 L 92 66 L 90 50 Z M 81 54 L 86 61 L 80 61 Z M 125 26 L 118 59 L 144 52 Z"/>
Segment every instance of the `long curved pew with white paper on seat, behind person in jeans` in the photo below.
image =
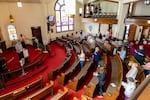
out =
<path fill-rule="evenodd" d="M 120 92 L 123 78 L 123 67 L 118 55 L 111 57 L 111 68 L 111 80 L 106 92 L 103 93 L 104 100 L 116 100 Z M 113 84 L 115 86 L 113 86 Z"/>

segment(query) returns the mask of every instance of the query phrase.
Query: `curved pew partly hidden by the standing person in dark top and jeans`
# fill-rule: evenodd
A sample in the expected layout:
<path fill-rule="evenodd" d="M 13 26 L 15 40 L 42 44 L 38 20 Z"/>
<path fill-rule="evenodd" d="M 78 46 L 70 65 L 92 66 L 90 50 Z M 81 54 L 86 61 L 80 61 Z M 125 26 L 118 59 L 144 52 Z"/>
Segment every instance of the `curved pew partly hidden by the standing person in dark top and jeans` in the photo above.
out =
<path fill-rule="evenodd" d="M 107 69 L 107 55 L 103 54 L 102 60 L 99 61 L 100 65 L 104 65 Z M 96 72 L 98 72 L 98 68 L 96 69 Z M 94 97 L 94 94 L 96 92 L 96 89 L 98 89 L 98 78 L 96 76 L 93 76 L 88 85 L 84 86 L 84 95 L 90 98 Z"/>

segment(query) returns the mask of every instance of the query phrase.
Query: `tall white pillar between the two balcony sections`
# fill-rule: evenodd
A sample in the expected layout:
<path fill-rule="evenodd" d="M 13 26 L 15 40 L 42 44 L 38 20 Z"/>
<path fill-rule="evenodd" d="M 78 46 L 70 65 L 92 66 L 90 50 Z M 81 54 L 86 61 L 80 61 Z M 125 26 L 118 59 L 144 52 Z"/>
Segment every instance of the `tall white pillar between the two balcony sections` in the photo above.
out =
<path fill-rule="evenodd" d="M 124 30 L 125 30 L 124 20 L 128 13 L 128 7 L 129 7 L 129 4 L 123 4 L 123 1 L 119 0 L 118 12 L 117 12 L 118 24 L 115 30 L 116 38 L 123 39 Z"/>

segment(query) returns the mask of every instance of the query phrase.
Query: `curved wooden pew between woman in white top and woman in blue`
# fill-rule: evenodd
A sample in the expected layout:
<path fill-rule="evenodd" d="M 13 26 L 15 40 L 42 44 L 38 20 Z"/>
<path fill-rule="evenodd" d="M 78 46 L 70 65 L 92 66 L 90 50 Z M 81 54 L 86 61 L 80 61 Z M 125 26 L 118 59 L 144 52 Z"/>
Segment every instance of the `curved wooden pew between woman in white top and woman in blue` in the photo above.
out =
<path fill-rule="evenodd" d="M 74 77 L 73 80 L 69 80 L 70 89 L 74 91 L 77 91 L 79 89 L 79 85 L 83 83 L 83 80 L 85 79 L 91 64 L 92 59 L 90 59 L 88 62 L 85 63 L 84 67 L 80 70 L 78 75 Z"/>

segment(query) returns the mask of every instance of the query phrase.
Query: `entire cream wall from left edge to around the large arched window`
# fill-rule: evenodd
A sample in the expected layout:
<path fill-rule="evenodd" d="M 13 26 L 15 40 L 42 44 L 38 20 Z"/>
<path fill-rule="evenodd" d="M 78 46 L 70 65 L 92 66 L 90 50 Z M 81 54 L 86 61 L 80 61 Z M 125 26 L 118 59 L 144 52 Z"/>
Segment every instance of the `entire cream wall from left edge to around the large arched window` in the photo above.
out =
<path fill-rule="evenodd" d="M 17 34 L 23 34 L 25 37 L 31 39 L 32 32 L 31 27 L 41 26 L 42 39 L 49 40 L 50 38 L 55 39 L 57 36 L 67 35 L 69 33 L 75 33 L 82 29 L 82 17 L 79 16 L 78 8 L 83 5 L 77 2 L 76 4 L 76 15 L 74 31 L 56 33 L 56 27 L 50 27 L 53 29 L 53 33 L 47 30 L 47 16 L 55 15 L 54 6 L 56 0 L 41 0 L 41 3 L 23 3 L 22 8 L 18 8 L 16 3 L 0 3 L 0 28 L 2 31 L 2 37 L 6 41 L 7 47 L 11 46 L 9 40 L 7 26 L 9 25 L 9 15 L 12 14 L 15 22 L 14 25 L 17 29 Z M 27 43 L 31 44 L 28 40 Z"/>

